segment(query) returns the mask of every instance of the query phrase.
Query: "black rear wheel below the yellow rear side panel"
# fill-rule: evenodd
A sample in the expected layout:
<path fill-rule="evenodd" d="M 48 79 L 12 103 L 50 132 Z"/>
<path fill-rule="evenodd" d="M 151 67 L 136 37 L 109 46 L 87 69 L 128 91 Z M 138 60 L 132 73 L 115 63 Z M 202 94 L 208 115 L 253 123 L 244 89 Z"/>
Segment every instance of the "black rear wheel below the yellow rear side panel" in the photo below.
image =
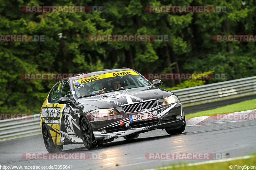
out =
<path fill-rule="evenodd" d="M 45 146 L 46 150 L 49 153 L 61 152 L 63 149 L 63 145 L 55 145 L 53 143 L 48 126 L 46 124 L 44 124 L 42 129 L 43 129 L 42 133 L 43 133 L 43 138 L 44 138 L 44 146 Z"/>

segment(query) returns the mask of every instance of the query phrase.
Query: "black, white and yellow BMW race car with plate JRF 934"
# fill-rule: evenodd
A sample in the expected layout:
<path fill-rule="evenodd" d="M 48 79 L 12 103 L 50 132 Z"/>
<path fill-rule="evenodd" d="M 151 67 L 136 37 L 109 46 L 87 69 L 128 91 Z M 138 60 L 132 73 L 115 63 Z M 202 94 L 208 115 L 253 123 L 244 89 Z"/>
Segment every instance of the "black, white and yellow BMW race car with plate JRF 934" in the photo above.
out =
<path fill-rule="evenodd" d="M 40 111 L 41 130 L 48 152 L 66 144 L 89 150 L 117 137 L 131 140 L 140 133 L 165 129 L 182 133 L 186 122 L 179 98 L 158 88 L 129 68 L 100 70 L 58 81 Z"/>

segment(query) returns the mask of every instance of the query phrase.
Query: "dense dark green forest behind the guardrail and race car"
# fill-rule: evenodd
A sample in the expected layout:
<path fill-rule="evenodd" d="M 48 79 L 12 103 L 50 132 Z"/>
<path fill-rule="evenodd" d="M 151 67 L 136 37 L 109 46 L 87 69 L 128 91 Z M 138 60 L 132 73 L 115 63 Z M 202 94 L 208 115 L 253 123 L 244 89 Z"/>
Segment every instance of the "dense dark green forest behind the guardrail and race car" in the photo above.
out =
<path fill-rule="evenodd" d="M 104 6 L 103 12 L 24 13 L 26 5 Z M 225 6 L 226 12 L 149 13 L 146 6 Z M 84 73 L 128 67 L 146 73 L 254 76 L 255 42 L 216 42 L 214 35 L 256 35 L 255 0 L 2 0 L 0 34 L 46 35 L 44 42 L 0 42 L 0 113 L 39 113 L 56 80 L 24 73 Z M 88 35 L 168 35 L 169 41 L 91 42 Z M 223 81 L 223 80 L 219 80 Z M 217 80 L 170 80 L 189 87 Z"/>

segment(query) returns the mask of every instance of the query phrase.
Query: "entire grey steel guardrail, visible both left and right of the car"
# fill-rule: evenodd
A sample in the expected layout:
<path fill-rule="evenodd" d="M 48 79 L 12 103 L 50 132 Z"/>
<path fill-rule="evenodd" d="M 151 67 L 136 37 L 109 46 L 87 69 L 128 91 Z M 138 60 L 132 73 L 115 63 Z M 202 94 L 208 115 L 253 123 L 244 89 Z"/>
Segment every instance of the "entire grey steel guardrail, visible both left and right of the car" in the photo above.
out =
<path fill-rule="evenodd" d="M 256 76 L 173 90 L 183 105 L 256 93 Z M 41 132 L 40 115 L 0 120 L 0 140 Z"/>

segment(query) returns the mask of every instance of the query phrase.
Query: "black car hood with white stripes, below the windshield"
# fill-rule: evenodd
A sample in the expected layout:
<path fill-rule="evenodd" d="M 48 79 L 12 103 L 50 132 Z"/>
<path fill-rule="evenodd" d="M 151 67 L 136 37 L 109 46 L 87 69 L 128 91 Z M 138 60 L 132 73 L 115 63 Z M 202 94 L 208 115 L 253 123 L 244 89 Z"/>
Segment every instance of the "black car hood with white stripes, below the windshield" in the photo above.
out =
<path fill-rule="evenodd" d="M 154 86 L 137 87 L 114 92 L 84 97 L 77 100 L 77 103 L 96 106 L 99 108 L 119 107 L 124 104 L 143 102 L 150 99 L 162 99 L 173 94 L 172 92 Z"/>

